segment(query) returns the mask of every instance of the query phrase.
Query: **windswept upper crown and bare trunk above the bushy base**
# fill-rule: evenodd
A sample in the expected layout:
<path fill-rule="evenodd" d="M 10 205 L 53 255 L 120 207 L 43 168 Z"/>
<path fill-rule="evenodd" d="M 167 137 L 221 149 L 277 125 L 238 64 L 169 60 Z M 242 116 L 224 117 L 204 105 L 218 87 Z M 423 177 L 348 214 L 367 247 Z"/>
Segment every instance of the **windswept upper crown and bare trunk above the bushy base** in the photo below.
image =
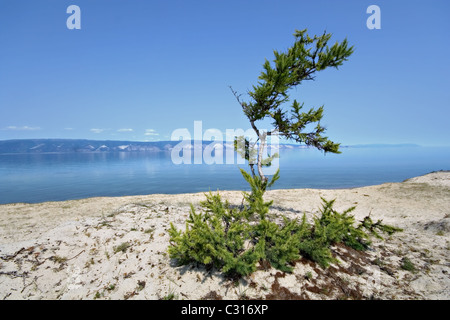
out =
<path fill-rule="evenodd" d="M 274 51 L 273 64 L 266 59 L 258 84 L 248 91 L 249 101 L 243 101 L 242 95 L 230 87 L 259 141 L 259 146 L 256 147 L 256 142 L 250 144 L 247 139 L 242 141 L 241 138 L 241 143 L 235 143 L 235 148 L 249 161 L 253 175 L 255 175 L 254 165 L 257 165 L 257 173 L 263 182 L 267 181 L 267 177 L 262 167 L 277 156 L 263 158 L 267 136 L 278 135 L 324 152 L 339 153 L 339 143 L 324 136 L 325 128 L 320 124 L 323 106 L 305 112 L 304 103 L 295 99 L 289 101 L 289 91 L 303 81 L 314 80 L 319 71 L 341 66 L 353 53 L 353 47 L 349 47 L 347 39 L 330 46 L 328 42 L 331 34 L 326 32 L 320 36 L 310 37 L 307 29 L 296 30 L 294 37 L 294 44 L 285 52 Z M 286 110 L 285 106 L 288 103 L 290 108 Z M 266 131 L 257 127 L 258 121 L 265 118 L 272 120 L 273 130 Z M 309 128 L 312 124 L 316 124 L 315 127 L 305 132 L 307 126 Z M 255 148 L 256 152 L 249 151 Z"/>

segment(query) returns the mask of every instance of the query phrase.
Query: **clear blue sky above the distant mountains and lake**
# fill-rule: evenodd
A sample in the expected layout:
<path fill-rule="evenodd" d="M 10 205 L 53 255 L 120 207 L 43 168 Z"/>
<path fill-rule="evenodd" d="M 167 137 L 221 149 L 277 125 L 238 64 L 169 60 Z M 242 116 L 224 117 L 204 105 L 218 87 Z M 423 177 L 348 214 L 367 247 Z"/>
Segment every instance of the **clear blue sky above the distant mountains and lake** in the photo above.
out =
<path fill-rule="evenodd" d="M 69 5 L 81 29 L 69 30 Z M 370 30 L 369 5 L 381 9 Z M 292 91 L 325 105 L 343 144 L 450 145 L 450 2 L 379 0 L 0 0 L 0 140 L 169 140 L 249 128 L 245 93 L 295 29 L 355 53 Z"/>

